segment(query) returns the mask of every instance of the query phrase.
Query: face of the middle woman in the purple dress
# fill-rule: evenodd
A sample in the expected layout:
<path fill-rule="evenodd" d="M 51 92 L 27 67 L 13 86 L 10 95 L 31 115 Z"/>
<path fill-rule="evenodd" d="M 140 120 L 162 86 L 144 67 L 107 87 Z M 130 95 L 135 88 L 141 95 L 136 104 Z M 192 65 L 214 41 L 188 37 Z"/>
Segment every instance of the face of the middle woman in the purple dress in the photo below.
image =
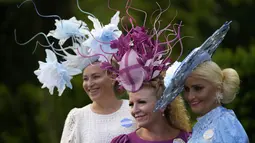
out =
<path fill-rule="evenodd" d="M 160 111 L 153 112 L 157 98 L 155 89 L 152 87 L 142 87 L 135 93 L 129 93 L 129 105 L 131 114 L 135 118 L 139 127 L 149 127 L 157 123 Z"/>

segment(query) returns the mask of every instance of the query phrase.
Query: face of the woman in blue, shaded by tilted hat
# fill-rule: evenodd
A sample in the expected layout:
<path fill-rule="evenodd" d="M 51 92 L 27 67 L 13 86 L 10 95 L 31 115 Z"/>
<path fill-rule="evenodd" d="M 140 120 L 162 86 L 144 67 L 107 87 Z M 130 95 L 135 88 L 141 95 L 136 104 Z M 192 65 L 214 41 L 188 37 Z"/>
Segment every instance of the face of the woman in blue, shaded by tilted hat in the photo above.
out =
<path fill-rule="evenodd" d="M 184 85 L 184 99 L 188 102 L 191 110 L 198 115 L 205 115 L 215 107 L 217 88 L 209 81 L 191 74 Z"/>

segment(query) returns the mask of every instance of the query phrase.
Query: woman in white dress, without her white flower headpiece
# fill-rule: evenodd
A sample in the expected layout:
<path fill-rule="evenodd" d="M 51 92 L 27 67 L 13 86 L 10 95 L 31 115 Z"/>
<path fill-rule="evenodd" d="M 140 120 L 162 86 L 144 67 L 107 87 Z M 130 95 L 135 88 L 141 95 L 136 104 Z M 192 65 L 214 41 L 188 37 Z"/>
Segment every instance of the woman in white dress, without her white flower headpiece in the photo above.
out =
<path fill-rule="evenodd" d="M 128 100 L 117 99 L 112 74 L 96 62 L 83 71 L 83 88 L 92 103 L 74 108 L 67 116 L 61 143 L 108 143 L 136 129 Z"/>

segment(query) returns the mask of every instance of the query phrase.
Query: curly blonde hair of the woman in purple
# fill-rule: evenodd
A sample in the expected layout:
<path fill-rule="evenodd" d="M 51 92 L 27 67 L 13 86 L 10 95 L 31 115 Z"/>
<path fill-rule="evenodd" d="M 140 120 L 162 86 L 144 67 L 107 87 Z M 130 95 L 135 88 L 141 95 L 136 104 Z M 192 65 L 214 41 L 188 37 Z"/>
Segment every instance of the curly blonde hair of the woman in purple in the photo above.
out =
<path fill-rule="evenodd" d="M 143 84 L 147 87 L 153 87 L 156 89 L 156 97 L 159 99 L 163 95 L 165 89 L 163 84 L 163 77 L 159 76 L 152 81 Z M 165 109 L 165 117 L 168 123 L 174 128 L 190 132 L 190 116 L 184 104 L 184 100 L 181 96 L 177 96 Z"/>

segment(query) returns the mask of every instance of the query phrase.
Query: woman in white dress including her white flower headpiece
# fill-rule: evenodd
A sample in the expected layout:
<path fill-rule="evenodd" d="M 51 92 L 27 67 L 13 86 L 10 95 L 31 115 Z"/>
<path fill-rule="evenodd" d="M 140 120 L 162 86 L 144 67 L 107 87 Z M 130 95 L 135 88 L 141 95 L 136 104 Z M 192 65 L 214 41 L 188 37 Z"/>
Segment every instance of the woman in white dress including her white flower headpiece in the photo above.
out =
<path fill-rule="evenodd" d="M 128 101 L 118 100 L 112 74 L 100 68 L 102 62 L 111 60 L 112 54 L 109 53 L 116 52 L 110 48 L 110 42 L 121 34 L 119 12 L 105 26 L 92 14 L 88 19 L 94 25 L 91 31 L 85 22 L 75 17 L 56 20 L 56 29 L 47 36 L 59 40 L 60 48 L 46 37 L 49 45 L 45 47 L 52 50 L 45 50 L 46 62 L 39 62 L 40 67 L 35 71 L 42 88 L 47 87 L 53 94 L 57 87 L 59 96 L 66 86 L 72 88 L 72 76 L 83 73 L 83 88 L 92 103 L 69 112 L 61 143 L 109 143 L 115 136 L 136 129 Z M 67 39 L 71 41 L 66 42 Z"/>

